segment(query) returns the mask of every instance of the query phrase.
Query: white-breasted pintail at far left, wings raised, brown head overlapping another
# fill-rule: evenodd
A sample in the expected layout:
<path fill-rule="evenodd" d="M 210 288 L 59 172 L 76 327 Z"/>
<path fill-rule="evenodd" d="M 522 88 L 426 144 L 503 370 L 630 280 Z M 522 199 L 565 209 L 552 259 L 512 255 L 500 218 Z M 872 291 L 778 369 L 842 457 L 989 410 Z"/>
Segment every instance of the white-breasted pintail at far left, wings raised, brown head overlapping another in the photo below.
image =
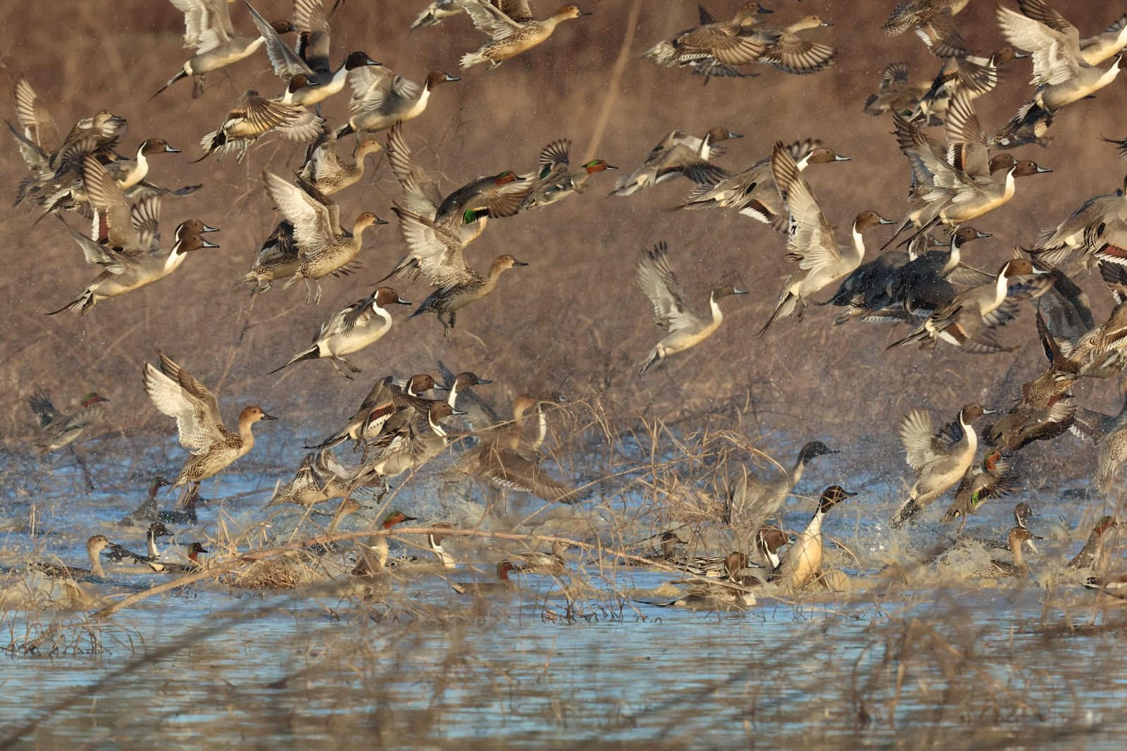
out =
<path fill-rule="evenodd" d="M 124 202 L 124 195 L 121 198 Z M 126 212 L 130 211 L 127 203 L 123 203 L 122 206 Z M 104 245 L 91 240 L 60 219 L 82 248 L 86 259 L 103 266 L 105 271 L 87 284 L 77 298 L 47 315 L 55 316 L 66 310 L 85 316 L 101 300 L 123 295 L 165 279 L 180 267 L 189 253 L 220 247 L 202 237 L 206 232 L 218 232 L 218 228 L 208 227 L 198 219 L 189 219 L 177 226 L 172 235 L 172 247 L 162 253 L 157 232 L 158 211 L 159 203 L 153 200 L 144 200 L 134 207 L 132 213 L 142 218 L 143 223 L 136 233 L 136 241 L 127 242 L 125 247 L 122 245 L 115 247 L 113 230 L 110 241 Z"/>

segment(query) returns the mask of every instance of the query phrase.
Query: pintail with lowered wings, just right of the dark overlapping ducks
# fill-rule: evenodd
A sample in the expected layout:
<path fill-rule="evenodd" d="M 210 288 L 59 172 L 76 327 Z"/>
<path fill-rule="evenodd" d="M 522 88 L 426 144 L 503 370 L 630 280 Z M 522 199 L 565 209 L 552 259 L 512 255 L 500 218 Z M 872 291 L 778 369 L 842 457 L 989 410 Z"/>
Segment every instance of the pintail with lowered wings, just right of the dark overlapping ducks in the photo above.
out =
<path fill-rule="evenodd" d="M 1002 352 L 1005 347 L 993 338 L 991 329 L 1012 320 L 1022 300 L 1044 294 L 1053 283 L 1054 277 L 1028 258 L 1011 258 L 994 281 L 960 292 L 888 348 L 911 342 L 928 348 L 942 339 L 971 354 Z"/>

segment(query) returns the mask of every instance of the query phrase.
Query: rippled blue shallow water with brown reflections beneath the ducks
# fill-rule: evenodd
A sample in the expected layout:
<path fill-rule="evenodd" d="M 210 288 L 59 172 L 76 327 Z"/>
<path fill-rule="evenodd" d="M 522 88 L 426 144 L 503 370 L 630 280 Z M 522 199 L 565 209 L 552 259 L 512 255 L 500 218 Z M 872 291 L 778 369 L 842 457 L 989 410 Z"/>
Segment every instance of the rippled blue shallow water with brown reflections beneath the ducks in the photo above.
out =
<path fill-rule="evenodd" d="M 87 495 L 64 458 L 29 465 L 6 491 L 9 562 L 33 549 L 81 560 L 94 532 L 142 547 L 143 532 L 116 521 L 143 497 L 135 467 L 152 461 L 123 456 L 133 459 L 97 477 L 99 488 L 125 493 Z M 276 475 L 251 466 L 205 487 L 241 497 L 203 511 L 178 541 L 213 539 L 218 519 L 260 521 Z M 826 529 L 857 555 L 835 554 L 854 576 L 904 544 L 872 521 L 895 506 L 895 488 L 873 481 L 867 492 Z M 33 501 L 34 542 L 20 529 Z M 407 484 L 397 503 L 438 513 L 425 481 Z M 1004 529 L 1008 507 L 975 524 Z M 344 529 L 364 529 L 372 513 Z M 598 513 L 568 513 L 574 528 L 586 520 L 597 532 Z M 801 527 L 808 513 L 796 503 L 788 524 Z M 284 539 L 293 516 L 275 516 L 266 533 Z M 1046 540 L 1042 558 L 1071 545 Z M 473 550 L 477 576 L 488 577 L 494 548 Z M 1104 610 L 1079 586 L 977 589 L 956 576 L 948 583 L 957 586 L 919 590 L 872 580 L 868 594 L 761 597 L 746 612 L 710 613 L 655 604 L 673 599 L 655 589 L 672 575 L 570 555 L 584 567 L 573 578 L 592 585 L 571 609 L 561 582 L 539 575 L 478 600 L 433 575 L 402 575 L 365 602 L 332 587 L 248 592 L 215 582 L 157 595 L 92 625 L 92 654 L 73 628 L 53 656 L 5 657 L 0 736 L 42 746 L 1121 748 L 1127 656 L 1116 647 L 1127 618 L 1118 601 Z M 89 590 L 114 599 L 165 581 L 112 568 L 108 578 Z M 637 591 L 649 593 L 645 602 L 622 597 Z M 9 611 L 0 640 L 52 618 L 87 622 Z"/>

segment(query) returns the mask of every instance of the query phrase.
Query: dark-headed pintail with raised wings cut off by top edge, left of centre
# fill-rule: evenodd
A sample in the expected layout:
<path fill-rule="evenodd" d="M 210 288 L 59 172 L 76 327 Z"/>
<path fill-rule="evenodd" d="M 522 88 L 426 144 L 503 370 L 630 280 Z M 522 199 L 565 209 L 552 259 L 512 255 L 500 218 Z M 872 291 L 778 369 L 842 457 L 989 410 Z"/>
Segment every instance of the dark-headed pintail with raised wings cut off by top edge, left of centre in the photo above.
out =
<path fill-rule="evenodd" d="M 246 0 L 245 0 L 246 2 Z M 340 65 L 332 70 L 329 60 L 329 21 L 321 0 L 296 0 L 293 3 L 293 27 L 303 45 L 302 55 L 290 48 L 278 33 L 254 7 L 246 2 L 258 33 L 266 41 L 266 54 L 278 78 L 287 85 L 296 76 L 304 76 L 312 83 L 302 89 L 299 104 L 316 105 L 345 88 L 349 74 L 367 65 L 380 63 L 366 52 L 349 53 Z"/>

